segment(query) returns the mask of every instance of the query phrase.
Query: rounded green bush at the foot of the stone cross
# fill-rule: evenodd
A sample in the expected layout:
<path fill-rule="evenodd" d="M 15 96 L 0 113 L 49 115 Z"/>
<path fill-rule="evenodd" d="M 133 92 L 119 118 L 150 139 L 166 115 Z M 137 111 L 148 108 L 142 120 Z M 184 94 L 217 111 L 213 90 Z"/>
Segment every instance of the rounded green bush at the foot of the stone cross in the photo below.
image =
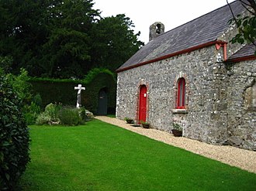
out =
<path fill-rule="evenodd" d="M 58 118 L 60 119 L 61 124 L 64 125 L 84 124 L 84 121 L 79 114 L 78 108 L 63 107 L 58 112 Z"/>

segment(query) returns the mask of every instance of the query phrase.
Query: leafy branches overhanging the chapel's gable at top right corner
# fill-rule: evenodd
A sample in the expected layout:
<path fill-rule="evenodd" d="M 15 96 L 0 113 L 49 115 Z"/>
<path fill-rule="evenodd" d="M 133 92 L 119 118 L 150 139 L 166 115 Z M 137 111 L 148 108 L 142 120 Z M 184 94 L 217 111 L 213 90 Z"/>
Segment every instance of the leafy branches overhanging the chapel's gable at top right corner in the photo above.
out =
<path fill-rule="evenodd" d="M 231 39 L 232 43 L 253 43 L 256 48 L 256 2 L 255 0 L 239 0 L 247 9 L 249 15 L 242 17 L 241 15 L 234 15 L 230 7 L 230 11 L 233 14 L 233 19 L 230 20 L 230 24 L 235 24 L 238 29 L 238 33 Z M 227 2 L 229 5 L 229 3 Z M 256 55 L 256 51 L 254 53 Z"/>

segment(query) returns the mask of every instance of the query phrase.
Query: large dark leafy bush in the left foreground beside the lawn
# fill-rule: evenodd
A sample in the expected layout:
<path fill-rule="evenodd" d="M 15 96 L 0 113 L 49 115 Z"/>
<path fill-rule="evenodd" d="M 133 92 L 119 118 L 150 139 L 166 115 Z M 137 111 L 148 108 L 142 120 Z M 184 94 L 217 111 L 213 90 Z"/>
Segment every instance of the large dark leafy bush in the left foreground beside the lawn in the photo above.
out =
<path fill-rule="evenodd" d="M 29 130 L 21 101 L 0 76 L 0 190 L 14 190 L 29 162 Z"/>

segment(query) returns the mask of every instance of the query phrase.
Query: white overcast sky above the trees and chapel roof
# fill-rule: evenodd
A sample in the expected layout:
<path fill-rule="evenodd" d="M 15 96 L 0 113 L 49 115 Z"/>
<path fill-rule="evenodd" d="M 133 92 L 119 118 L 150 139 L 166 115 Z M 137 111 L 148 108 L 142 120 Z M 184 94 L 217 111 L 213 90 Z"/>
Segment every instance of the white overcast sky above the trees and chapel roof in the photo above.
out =
<path fill-rule="evenodd" d="M 125 14 L 133 21 L 134 32 L 141 32 L 139 40 L 149 39 L 149 27 L 162 22 L 167 32 L 177 26 L 198 18 L 208 12 L 227 5 L 226 0 L 94 0 L 94 9 L 102 17 Z M 234 2 L 234 0 L 228 0 Z"/>

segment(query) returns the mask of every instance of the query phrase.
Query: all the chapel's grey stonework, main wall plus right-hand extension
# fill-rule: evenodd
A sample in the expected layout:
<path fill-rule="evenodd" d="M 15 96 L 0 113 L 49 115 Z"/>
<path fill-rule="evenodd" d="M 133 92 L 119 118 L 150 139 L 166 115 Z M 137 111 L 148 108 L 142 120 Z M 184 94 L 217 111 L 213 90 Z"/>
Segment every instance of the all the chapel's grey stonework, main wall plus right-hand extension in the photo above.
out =
<path fill-rule="evenodd" d="M 138 90 L 145 84 L 152 128 L 171 132 L 178 123 L 187 138 L 256 150 L 255 112 L 244 107 L 255 61 L 227 70 L 222 58 L 223 49 L 208 46 L 118 73 L 116 117 L 137 120 Z M 175 109 L 179 77 L 186 80 L 185 112 Z"/>

